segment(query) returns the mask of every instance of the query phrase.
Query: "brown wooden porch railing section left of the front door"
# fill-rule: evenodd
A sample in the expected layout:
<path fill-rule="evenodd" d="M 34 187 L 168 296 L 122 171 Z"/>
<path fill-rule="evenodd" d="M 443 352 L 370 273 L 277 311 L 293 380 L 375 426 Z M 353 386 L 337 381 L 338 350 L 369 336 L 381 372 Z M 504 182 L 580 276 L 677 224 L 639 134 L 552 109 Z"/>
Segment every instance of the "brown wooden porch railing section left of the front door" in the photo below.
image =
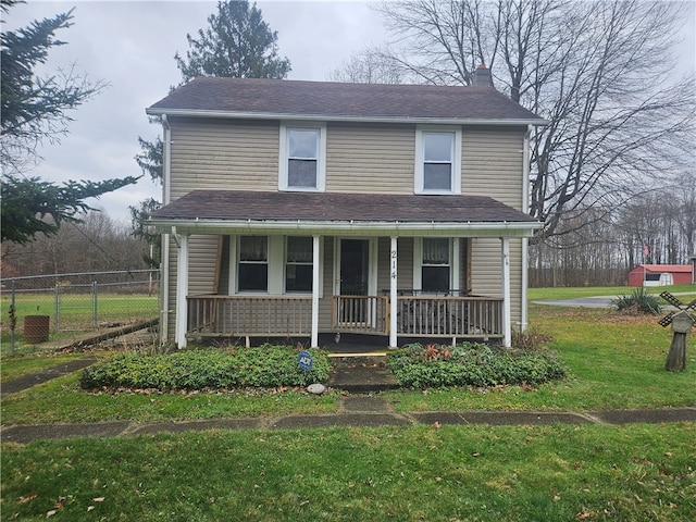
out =
<path fill-rule="evenodd" d="M 311 297 L 188 297 L 187 332 L 192 335 L 311 335 Z"/>

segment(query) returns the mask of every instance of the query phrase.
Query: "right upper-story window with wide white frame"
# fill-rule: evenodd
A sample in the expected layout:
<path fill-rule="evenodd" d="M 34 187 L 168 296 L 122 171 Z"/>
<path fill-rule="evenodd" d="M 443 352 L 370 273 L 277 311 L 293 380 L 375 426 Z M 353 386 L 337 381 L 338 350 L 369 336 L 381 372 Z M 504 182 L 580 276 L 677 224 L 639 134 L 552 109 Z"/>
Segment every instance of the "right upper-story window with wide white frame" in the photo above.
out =
<path fill-rule="evenodd" d="M 461 129 L 418 127 L 415 192 L 461 192 Z"/>

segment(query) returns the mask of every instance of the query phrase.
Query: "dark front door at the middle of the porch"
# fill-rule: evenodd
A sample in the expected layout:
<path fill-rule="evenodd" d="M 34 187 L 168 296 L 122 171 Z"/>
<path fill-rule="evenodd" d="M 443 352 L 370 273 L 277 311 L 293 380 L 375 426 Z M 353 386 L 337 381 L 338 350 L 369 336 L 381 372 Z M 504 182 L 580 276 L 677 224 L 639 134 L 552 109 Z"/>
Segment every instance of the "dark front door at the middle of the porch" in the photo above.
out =
<path fill-rule="evenodd" d="M 366 298 L 370 281 L 370 241 L 341 239 L 338 323 L 343 326 L 364 325 L 370 316 Z"/>

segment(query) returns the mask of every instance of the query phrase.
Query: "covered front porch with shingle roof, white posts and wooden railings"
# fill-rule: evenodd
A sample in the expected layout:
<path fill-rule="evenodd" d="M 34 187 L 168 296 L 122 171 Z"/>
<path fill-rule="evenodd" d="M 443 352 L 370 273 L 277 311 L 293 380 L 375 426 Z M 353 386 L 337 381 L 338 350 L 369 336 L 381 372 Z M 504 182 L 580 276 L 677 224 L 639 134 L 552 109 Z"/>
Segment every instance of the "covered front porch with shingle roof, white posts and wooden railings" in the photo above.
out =
<path fill-rule="evenodd" d="M 200 190 L 156 212 L 163 335 L 510 346 L 539 226 L 492 198 Z M 170 297 L 171 296 L 171 297 Z"/>

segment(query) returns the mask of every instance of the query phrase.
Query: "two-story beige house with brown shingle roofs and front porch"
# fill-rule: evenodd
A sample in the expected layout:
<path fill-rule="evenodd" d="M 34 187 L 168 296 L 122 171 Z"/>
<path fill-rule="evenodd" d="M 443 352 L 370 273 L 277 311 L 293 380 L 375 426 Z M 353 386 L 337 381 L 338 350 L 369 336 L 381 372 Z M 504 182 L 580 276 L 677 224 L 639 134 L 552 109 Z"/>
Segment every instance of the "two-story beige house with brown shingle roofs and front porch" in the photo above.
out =
<path fill-rule="evenodd" d="M 497 339 L 526 323 L 529 139 L 471 87 L 200 77 L 164 126 L 161 332 Z"/>

